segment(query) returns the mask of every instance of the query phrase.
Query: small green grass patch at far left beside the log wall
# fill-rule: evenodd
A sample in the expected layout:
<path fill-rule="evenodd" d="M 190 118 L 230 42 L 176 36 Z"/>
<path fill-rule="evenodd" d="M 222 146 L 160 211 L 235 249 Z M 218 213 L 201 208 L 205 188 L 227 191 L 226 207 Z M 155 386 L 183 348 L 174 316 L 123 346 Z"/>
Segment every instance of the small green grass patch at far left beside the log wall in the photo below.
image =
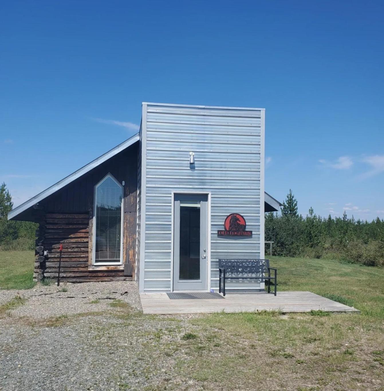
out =
<path fill-rule="evenodd" d="M 31 289 L 34 251 L 0 251 L 0 289 Z"/>

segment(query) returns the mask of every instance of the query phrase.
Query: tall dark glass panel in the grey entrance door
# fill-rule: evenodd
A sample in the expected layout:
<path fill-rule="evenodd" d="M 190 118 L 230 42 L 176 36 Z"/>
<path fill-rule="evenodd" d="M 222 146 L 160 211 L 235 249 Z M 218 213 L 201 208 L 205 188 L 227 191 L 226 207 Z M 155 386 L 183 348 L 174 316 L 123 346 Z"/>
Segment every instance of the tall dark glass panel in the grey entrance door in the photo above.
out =
<path fill-rule="evenodd" d="M 180 280 L 200 280 L 200 202 L 192 205 L 180 204 Z"/>

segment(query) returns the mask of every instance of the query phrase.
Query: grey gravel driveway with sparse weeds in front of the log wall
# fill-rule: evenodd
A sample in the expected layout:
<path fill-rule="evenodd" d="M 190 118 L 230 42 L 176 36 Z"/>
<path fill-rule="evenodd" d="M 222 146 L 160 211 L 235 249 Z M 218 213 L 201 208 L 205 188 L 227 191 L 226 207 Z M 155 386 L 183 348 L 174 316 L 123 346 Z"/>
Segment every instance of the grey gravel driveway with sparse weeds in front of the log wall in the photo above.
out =
<path fill-rule="evenodd" d="M 175 357 L 166 351 L 190 316 L 143 322 L 135 282 L 0 291 L 0 306 L 15 296 L 22 305 L 0 313 L 1 390 L 200 389 L 171 375 Z"/>

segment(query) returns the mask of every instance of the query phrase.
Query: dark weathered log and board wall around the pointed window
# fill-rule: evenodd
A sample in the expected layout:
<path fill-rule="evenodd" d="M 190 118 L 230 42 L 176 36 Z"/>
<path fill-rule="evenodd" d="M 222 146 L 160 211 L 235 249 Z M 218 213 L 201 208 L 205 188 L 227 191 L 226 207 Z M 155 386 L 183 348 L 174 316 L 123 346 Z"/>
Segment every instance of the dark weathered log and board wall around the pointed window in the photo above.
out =
<path fill-rule="evenodd" d="M 74 180 L 39 204 L 34 280 L 67 282 L 132 280 L 134 278 L 137 218 L 137 150 L 135 143 Z M 92 265 L 94 187 L 108 173 L 124 181 L 123 266 Z M 45 255 L 47 251 L 47 255 Z M 124 274 L 124 265 L 131 264 Z M 127 270 L 127 269 L 126 269 Z"/>

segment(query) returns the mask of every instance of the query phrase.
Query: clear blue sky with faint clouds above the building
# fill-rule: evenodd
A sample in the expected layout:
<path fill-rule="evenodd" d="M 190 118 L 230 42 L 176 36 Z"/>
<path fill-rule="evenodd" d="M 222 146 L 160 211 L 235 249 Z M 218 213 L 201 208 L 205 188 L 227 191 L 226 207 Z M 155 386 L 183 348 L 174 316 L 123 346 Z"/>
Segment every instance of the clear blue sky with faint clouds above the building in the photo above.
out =
<path fill-rule="evenodd" d="M 140 124 L 141 102 L 266 108 L 266 190 L 384 218 L 383 2 L 13 1 L 0 181 L 26 201 Z"/>

